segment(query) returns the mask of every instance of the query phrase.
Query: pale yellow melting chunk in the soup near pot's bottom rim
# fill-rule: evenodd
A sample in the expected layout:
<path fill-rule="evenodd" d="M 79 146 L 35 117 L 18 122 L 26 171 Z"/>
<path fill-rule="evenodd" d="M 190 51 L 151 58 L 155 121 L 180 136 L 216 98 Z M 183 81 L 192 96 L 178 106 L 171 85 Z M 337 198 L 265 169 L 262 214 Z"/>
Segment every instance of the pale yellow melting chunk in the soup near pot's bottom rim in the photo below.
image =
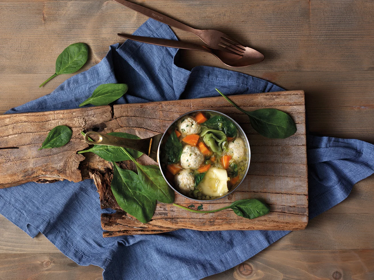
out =
<path fill-rule="evenodd" d="M 210 168 L 199 184 L 200 192 L 208 196 L 223 196 L 229 192 L 227 189 L 227 171 L 225 169 Z"/>

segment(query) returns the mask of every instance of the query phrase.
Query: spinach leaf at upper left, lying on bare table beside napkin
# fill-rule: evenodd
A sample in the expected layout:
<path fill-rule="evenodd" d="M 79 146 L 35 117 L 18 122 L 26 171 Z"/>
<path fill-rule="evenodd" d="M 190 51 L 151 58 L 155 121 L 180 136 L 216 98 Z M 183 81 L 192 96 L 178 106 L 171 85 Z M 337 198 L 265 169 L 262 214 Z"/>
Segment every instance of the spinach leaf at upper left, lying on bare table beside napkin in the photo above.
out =
<path fill-rule="evenodd" d="M 75 43 L 68 46 L 65 50 L 60 53 L 56 59 L 56 72 L 49 77 L 43 84 L 39 85 L 42 87 L 52 78 L 60 74 L 72 74 L 77 72 L 88 59 L 88 46 L 85 43 Z"/>

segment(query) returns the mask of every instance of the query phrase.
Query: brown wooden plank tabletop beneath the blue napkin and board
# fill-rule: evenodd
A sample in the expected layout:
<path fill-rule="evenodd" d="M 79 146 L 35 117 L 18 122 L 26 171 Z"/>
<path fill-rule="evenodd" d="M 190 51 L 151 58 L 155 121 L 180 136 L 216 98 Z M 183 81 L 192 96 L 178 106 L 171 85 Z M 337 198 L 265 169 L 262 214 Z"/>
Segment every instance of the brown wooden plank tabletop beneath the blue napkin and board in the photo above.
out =
<path fill-rule="evenodd" d="M 306 92 L 310 131 L 374 143 L 374 1 L 138 0 L 197 28 L 227 32 L 265 55 L 233 69 Z M 39 88 L 69 44 L 89 44 L 83 70 L 122 42 L 145 17 L 108 0 L 0 0 L 0 112 L 54 90 Z M 174 29 L 181 40 L 192 34 Z M 208 53 L 181 51 L 178 63 L 227 68 Z M 243 264 L 207 277 L 227 279 L 374 279 L 374 176 L 306 230 L 283 237 Z M 102 279 L 102 269 L 76 265 L 44 236 L 31 239 L 0 218 L 0 279 Z"/>

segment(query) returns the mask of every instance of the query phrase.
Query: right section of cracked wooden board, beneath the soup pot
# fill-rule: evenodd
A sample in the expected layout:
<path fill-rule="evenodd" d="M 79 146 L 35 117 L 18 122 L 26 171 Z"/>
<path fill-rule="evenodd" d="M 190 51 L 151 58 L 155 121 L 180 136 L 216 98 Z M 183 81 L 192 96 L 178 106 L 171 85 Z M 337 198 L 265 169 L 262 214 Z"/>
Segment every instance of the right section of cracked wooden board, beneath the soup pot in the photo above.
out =
<path fill-rule="evenodd" d="M 249 175 L 232 195 L 216 202 L 202 203 L 204 210 L 230 205 L 233 201 L 248 197 L 263 199 L 271 208 L 270 214 L 248 221 L 237 217 L 233 211 L 195 213 L 157 203 L 153 219 L 144 225 L 126 214 L 103 214 L 102 227 L 111 233 L 124 230 L 134 234 L 132 228 L 149 230 L 190 228 L 194 230 L 248 230 L 248 229 L 302 229 L 307 223 L 307 167 L 305 142 L 304 96 L 302 91 L 263 93 L 232 96 L 231 99 L 245 110 L 270 106 L 288 112 L 297 124 L 298 131 L 288 139 L 266 139 L 249 125 L 248 116 L 237 110 L 221 97 L 185 101 L 152 102 L 146 104 L 114 105 L 114 120 L 106 125 L 104 132 L 126 131 L 139 137 L 162 133 L 178 116 L 197 109 L 211 109 L 234 118 L 246 131 L 251 145 Z M 144 118 L 144 115 L 147 115 Z M 151 121 L 149 121 L 151 120 Z M 267 156 L 269 155 L 269 156 Z M 253 159 L 253 160 L 252 160 Z M 252 182 L 252 179 L 254 182 Z M 252 188 L 253 186 L 253 188 Z M 104 193 L 108 193 L 105 190 Z M 177 195 L 175 203 L 188 206 L 191 200 Z M 196 207 L 200 203 L 194 203 Z M 144 232 L 144 231 L 141 231 Z"/>

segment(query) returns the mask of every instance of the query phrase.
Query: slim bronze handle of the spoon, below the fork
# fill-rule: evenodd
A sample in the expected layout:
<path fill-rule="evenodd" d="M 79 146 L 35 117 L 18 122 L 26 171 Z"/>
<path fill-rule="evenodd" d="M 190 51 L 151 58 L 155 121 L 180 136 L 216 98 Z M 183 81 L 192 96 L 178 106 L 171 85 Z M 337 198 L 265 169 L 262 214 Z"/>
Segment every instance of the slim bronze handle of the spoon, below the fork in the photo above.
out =
<path fill-rule="evenodd" d="M 160 39 L 160 38 L 151 38 L 151 37 L 143 37 L 143 36 L 135 36 L 135 35 L 128 35 L 128 34 L 117 34 L 119 37 L 157 45 L 157 46 L 164 46 L 164 47 L 171 47 L 176 49 L 186 49 L 186 50 L 200 50 L 202 52 L 211 53 L 211 49 L 205 46 L 193 44 L 193 43 L 187 43 L 182 41 L 175 41 L 175 40 L 167 40 L 167 39 Z"/>

